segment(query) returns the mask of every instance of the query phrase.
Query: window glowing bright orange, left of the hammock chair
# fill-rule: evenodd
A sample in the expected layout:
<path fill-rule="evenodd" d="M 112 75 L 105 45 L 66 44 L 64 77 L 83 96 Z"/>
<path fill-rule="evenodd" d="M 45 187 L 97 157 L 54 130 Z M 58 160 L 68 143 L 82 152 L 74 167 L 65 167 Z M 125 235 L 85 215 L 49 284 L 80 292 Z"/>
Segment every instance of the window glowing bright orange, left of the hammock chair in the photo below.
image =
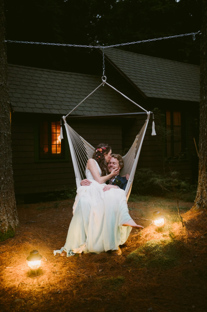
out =
<path fill-rule="evenodd" d="M 62 158 L 60 121 L 42 121 L 39 125 L 39 157 Z"/>

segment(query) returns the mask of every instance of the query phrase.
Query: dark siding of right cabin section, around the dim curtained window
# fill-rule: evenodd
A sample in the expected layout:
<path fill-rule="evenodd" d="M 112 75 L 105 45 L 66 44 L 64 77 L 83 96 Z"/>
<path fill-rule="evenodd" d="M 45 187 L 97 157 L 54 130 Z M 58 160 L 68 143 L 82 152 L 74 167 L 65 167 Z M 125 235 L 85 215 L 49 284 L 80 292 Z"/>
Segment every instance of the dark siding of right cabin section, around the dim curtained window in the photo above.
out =
<path fill-rule="evenodd" d="M 166 159 L 166 147 L 165 144 L 162 143 L 162 136 L 160 131 L 158 130 L 159 124 L 156 124 L 156 116 L 155 131 L 157 135 L 151 135 L 153 121 L 151 115 L 145 134 L 145 139 L 142 144 L 137 169 L 150 168 L 159 174 L 164 174 L 176 170 L 180 173 L 179 177 L 181 179 L 187 179 L 190 183 L 196 183 L 198 175 L 198 156 L 196 153 L 193 138 L 195 138 L 198 148 L 198 107 L 196 107 L 195 104 L 193 105 L 185 102 L 176 105 L 176 101 L 174 103 L 172 101 L 164 101 L 164 105 L 162 101 L 159 101 L 158 103 L 154 101 L 154 103 L 150 103 L 148 105 L 148 107 L 150 106 L 152 110 L 154 107 L 159 107 L 163 115 L 165 114 L 165 111 L 170 107 L 173 107 L 174 110 L 180 110 L 183 113 L 184 124 L 182 138 L 185 145 L 185 148 L 183 150 L 184 157 L 183 159 L 179 160 L 175 158 L 171 161 Z M 125 131 L 123 133 L 123 149 L 127 150 L 130 148 L 132 142 L 136 137 L 136 134 L 139 133 L 141 127 L 143 126 L 145 119 L 145 115 L 139 115 L 136 120 L 134 120 L 133 122 L 129 122 L 128 126 L 125 127 Z"/>

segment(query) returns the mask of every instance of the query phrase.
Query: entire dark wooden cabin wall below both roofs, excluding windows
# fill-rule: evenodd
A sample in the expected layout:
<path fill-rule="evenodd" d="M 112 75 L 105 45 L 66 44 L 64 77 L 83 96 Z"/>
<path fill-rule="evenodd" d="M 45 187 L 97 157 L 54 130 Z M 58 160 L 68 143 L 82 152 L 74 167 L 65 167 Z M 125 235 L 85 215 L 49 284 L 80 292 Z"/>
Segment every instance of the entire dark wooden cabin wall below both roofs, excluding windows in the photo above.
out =
<path fill-rule="evenodd" d="M 186 155 L 181 161 L 165 161 L 163 166 L 163 148 L 161 135 L 158 129 L 157 135 L 151 136 L 152 116 L 146 130 L 145 138 L 140 152 L 137 169 L 151 168 L 153 171 L 163 174 L 177 170 L 180 178 L 187 178 L 190 183 L 195 183 L 198 172 L 198 157 L 196 154 L 193 138 L 198 146 L 198 114 L 186 111 L 185 118 L 185 140 Z M 38 120 L 53 118 L 58 120 L 59 116 L 20 114 L 12 115 L 12 160 L 14 173 L 14 187 L 16 197 L 25 194 L 54 192 L 64 188 L 75 187 L 75 174 L 69 157 L 65 161 L 36 162 L 35 161 L 35 127 Z M 58 118 L 58 119 L 57 119 Z M 113 119 L 70 119 L 68 124 L 84 139 L 94 147 L 99 143 L 108 143 L 112 152 L 126 154 L 131 147 L 136 135 L 144 125 L 146 115 L 138 115 L 136 118 L 113 118 Z M 66 140 L 66 148 L 69 149 Z M 165 150 L 164 150 L 165 152 Z M 165 154 L 164 154 L 165 158 Z"/>

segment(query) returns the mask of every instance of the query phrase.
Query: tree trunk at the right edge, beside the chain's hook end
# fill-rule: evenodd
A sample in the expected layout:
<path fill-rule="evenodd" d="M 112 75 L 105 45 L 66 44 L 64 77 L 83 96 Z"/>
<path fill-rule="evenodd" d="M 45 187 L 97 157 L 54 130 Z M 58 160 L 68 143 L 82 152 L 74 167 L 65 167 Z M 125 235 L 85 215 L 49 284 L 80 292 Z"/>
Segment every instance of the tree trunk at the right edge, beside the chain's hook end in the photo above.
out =
<path fill-rule="evenodd" d="M 199 173 L 194 208 L 207 207 L 207 2 L 202 0 L 203 21 L 200 43 L 200 129 Z"/>

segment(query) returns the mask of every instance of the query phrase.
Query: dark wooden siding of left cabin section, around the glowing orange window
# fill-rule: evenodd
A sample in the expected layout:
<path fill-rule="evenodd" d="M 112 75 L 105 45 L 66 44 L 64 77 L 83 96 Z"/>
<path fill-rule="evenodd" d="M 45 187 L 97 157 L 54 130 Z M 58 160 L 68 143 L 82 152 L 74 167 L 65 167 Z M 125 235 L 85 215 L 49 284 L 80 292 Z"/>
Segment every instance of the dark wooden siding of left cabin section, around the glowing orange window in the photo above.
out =
<path fill-rule="evenodd" d="M 23 114 L 22 114 L 23 115 Z M 64 162 L 35 162 L 35 127 L 37 120 L 12 116 L 12 162 L 16 195 L 53 192 L 75 186 L 75 174 L 69 153 Z M 34 114 L 35 115 L 35 114 Z M 47 116 L 44 118 L 47 120 Z M 57 119 L 54 119 L 57 120 Z M 121 124 L 111 124 L 107 120 L 71 121 L 70 126 L 94 147 L 108 143 L 115 153 L 122 150 Z M 64 137 L 66 140 L 67 137 Z"/>

